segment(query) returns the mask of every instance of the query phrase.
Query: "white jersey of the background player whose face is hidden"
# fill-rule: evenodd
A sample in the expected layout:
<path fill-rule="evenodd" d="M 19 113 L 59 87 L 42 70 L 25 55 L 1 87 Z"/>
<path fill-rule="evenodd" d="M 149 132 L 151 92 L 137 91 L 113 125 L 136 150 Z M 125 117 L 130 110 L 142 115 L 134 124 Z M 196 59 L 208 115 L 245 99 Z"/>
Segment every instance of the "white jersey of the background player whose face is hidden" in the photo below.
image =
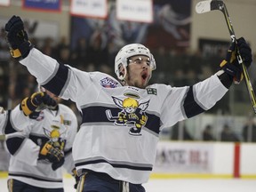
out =
<path fill-rule="evenodd" d="M 12 154 L 9 178 L 39 188 L 63 188 L 63 169 L 52 170 L 52 163 L 38 159 L 40 146 L 46 141 L 61 145 L 65 155 L 64 168 L 71 173 L 75 167 L 72 145 L 77 132 L 74 112 L 62 104 L 58 110 L 44 109 L 36 116 L 24 116 L 20 106 L 13 108 L 5 126 L 6 145 Z"/>

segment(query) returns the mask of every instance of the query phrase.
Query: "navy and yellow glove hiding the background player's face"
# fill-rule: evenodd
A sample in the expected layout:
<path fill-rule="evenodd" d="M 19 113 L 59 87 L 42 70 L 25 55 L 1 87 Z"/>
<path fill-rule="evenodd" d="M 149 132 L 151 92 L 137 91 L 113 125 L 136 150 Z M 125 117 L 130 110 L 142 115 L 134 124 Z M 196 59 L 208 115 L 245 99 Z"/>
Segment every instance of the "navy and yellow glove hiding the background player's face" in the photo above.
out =
<path fill-rule="evenodd" d="M 46 92 L 35 92 L 31 97 L 21 101 L 20 109 L 25 116 L 29 116 L 34 111 L 38 112 L 44 108 L 56 108 L 57 103 Z"/>

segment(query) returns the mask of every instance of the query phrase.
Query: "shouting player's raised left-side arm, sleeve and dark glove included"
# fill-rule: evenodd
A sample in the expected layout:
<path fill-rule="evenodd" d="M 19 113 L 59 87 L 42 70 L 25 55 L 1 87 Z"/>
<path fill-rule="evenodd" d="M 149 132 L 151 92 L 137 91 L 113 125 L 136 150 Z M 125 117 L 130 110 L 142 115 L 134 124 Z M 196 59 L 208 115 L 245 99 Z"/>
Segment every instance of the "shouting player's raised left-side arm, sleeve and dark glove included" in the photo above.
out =
<path fill-rule="evenodd" d="M 12 16 L 5 25 L 5 31 L 12 57 L 28 68 L 28 72 L 45 89 L 64 100 L 76 101 L 76 96 L 79 95 L 77 87 L 81 87 L 81 91 L 90 85 L 89 73 L 62 65 L 37 50 L 29 42 L 20 17 Z"/>

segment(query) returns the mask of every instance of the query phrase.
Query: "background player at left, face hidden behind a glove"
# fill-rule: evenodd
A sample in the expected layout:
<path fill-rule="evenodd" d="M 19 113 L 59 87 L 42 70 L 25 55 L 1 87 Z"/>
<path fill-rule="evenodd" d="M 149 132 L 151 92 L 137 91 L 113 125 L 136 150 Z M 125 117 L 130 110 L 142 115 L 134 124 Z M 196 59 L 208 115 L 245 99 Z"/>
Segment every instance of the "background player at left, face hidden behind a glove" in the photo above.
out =
<path fill-rule="evenodd" d="M 10 192 L 64 191 L 61 167 L 71 174 L 75 168 L 77 119 L 59 100 L 51 92 L 35 92 L 9 111 L 3 132 L 11 154 Z"/>

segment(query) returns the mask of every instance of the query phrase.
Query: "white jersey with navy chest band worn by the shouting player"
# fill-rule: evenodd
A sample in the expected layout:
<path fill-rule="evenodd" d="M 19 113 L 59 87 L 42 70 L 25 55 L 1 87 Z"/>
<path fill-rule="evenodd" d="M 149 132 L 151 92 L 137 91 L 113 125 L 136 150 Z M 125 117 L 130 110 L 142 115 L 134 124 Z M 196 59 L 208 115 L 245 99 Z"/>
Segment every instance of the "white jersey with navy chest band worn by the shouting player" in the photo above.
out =
<path fill-rule="evenodd" d="M 164 127 L 212 108 L 228 91 L 216 75 L 190 87 L 123 86 L 112 76 L 60 65 L 36 48 L 20 63 L 39 84 L 75 101 L 81 111 L 83 124 L 73 145 L 76 169 L 134 184 L 148 181 Z"/>

